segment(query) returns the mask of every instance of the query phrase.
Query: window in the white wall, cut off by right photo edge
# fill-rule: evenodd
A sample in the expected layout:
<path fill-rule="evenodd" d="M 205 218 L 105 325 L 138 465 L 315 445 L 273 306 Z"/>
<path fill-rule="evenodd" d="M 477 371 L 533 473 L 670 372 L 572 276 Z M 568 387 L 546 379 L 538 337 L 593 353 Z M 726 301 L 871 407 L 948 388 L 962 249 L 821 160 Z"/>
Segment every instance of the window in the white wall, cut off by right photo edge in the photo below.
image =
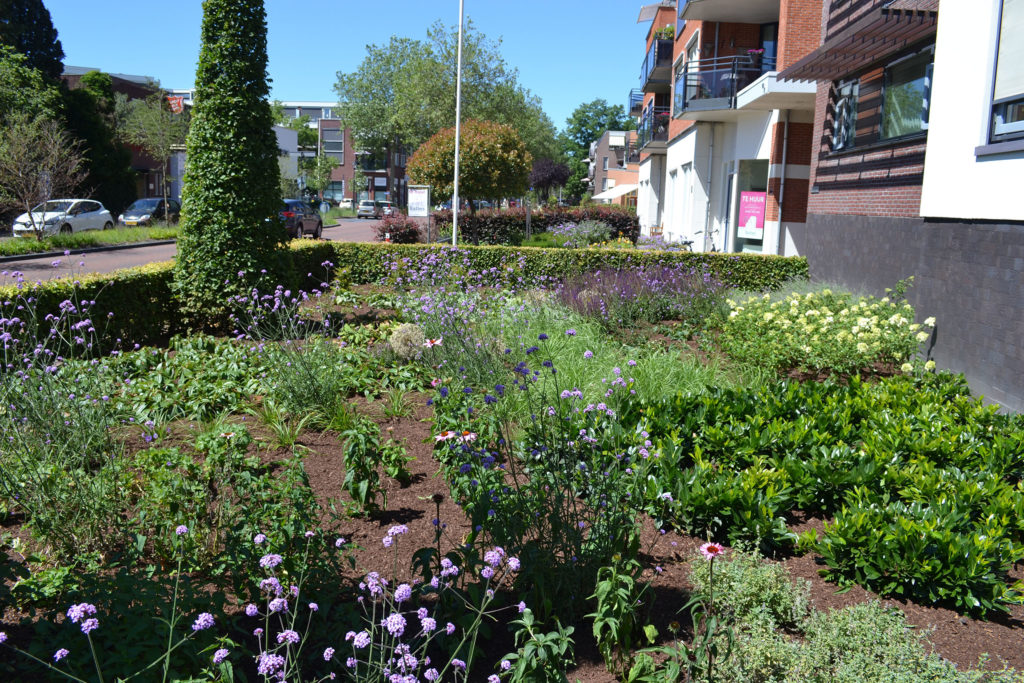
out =
<path fill-rule="evenodd" d="M 992 141 L 1024 137 L 1024 0 L 1002 0 L 992 90 Z"/>

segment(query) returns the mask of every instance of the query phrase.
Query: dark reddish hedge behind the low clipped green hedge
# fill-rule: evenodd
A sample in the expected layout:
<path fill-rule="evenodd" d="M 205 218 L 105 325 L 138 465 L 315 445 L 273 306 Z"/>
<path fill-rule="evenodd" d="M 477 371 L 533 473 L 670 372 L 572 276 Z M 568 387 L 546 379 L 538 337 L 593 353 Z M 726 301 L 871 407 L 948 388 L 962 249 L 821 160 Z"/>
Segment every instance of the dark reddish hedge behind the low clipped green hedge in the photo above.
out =
<path fill-rule="evenodd" d="M 434 224 L 440 234 L 452 231 L 452 212 L 435 211 Z M 530 217 L 530 230 L 545 232 L 561 223 L 582 223 L 599 220 L 611 226 L 613 237 L 622 234 L 636 244 L 640 237 L 640 219 L 629 209 L 591 205 L 574 208 L 544 209 Z M 526 236 L 526 210 L 507 209 L 459 213 L 460 240 L 473 245 L 518 245 Z"/>

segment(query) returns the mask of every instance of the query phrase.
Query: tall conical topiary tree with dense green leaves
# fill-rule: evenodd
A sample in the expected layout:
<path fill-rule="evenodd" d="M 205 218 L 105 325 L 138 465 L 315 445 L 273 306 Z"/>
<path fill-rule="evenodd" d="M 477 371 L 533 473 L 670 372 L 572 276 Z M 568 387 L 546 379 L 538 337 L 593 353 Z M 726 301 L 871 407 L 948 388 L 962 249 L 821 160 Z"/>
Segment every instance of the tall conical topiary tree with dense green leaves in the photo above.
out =
<path fill-rule="evenodd" d="M 174 271 L 194 325 L 216 321 L 261 269 L 280 273 L 274 252 L 285 233 L 266 61 L 263 0 L 205 0 Z"/>

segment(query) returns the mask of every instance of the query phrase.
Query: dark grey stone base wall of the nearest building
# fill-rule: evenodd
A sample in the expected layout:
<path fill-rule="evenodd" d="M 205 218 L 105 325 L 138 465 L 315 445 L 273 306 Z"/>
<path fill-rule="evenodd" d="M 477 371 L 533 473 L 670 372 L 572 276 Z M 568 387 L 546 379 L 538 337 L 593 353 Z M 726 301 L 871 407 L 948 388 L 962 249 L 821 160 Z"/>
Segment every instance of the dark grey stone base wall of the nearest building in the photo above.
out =
<path fill-rule="evenodd" d="M 811 278 L 881 296 L 913 275 L 925 348 L 975 394 L 1024 412 L 1024 224 L 811 214 L 794 234 Z"/>

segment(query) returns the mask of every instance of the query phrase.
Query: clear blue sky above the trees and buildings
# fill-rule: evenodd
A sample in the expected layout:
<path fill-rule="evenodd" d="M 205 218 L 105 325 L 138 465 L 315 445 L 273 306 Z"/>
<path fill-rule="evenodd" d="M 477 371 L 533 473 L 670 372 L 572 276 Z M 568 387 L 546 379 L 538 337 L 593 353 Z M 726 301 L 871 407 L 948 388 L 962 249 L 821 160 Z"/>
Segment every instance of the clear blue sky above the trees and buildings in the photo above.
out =
<path fill-rule="evenodd" d="M 650 0 L 648 0 L 650 1 Z M 167 88 L 190 87 L 199 56 L 200 0 L 44 0 L 65 63 L 151 76 Z M 502 39 L 505 60 L 540 96 L 561 129 L 581 102 L 625 105 L 639 85 L 642 1 L 465 0 L 484 35 Z M 425 39 L 436 19 L 456 25 L 458 0 L 266 0 L 272 97 L 335 99 L 338 71 L 353 71 L 366 45 L 392 35 Z"/>

